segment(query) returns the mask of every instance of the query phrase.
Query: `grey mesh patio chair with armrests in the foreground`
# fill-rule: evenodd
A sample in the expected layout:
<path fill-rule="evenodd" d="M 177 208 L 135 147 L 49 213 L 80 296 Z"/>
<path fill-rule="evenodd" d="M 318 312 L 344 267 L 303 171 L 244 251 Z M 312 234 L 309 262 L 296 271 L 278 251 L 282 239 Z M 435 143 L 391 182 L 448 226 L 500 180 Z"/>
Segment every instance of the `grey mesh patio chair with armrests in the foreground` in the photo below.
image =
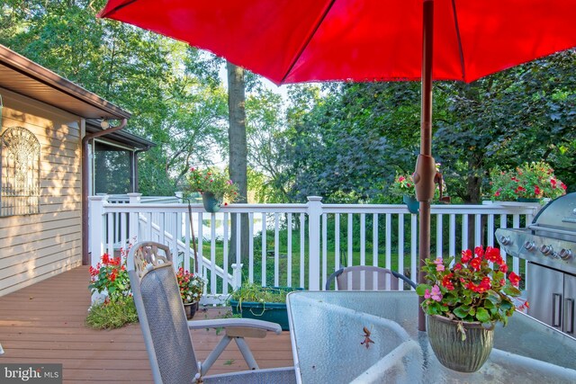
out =
<path fill-rule="evenodd" d="M 159 383 L 292 383 L 293 367 L 259 370 L 244 337 L 265 337 L 280 326 L 262 320 L 226 318 L 187 321 L 167 246 L 145 241 L 132 246 L 128 274 L 154 382 Z M 224 335 L 204 362 L 196 360 L 191 329 L 223 328 Z M 204 376 L 234 340 L 250 370 Z"/>

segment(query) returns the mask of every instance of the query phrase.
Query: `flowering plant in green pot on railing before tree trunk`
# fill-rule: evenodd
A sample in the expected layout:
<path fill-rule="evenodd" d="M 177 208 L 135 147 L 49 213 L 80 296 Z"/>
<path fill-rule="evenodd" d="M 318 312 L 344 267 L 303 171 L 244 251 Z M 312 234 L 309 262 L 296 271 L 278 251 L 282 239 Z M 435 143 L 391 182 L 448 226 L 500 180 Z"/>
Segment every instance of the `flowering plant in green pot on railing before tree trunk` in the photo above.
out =
<path fill-rule="evenodd" d="M 224 199 L 229 202 L 238 199 L 238 186 L 217 168 L 190 168 L 187 189 L 202 194 L 202 203 L 208 212 L 220 210 Z"/>

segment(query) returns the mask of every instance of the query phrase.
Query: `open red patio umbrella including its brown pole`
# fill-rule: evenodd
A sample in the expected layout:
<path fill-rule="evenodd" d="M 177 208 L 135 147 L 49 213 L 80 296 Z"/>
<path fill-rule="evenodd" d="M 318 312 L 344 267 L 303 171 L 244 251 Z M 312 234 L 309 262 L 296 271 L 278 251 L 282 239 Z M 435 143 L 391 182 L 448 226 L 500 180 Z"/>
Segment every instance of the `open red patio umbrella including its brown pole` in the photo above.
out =
<path fill-rule="evenodd" d="M 432 80 L 469 83 L 576 46 L 574 0 L 109 0 L 99 17 L 208 49 L 278 85 L 421 80 L 420 266 L 436 175 Z"/>

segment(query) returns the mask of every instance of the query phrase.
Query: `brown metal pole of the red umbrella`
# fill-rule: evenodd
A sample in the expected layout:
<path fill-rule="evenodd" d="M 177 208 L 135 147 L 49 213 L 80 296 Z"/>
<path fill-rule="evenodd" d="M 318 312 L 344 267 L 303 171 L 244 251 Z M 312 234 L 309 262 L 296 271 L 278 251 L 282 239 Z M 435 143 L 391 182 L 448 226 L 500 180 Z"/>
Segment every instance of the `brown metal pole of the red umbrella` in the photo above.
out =
<path fill-rule="evenodd" d="M 422 270 L 430 251 L 430 201 L 434 196 L 436 164 L 432 158 L 432 52 L 434 0 L 424 0 L 422 28 L 422 110 L 420 115 L 420 155 L 416 163 L 416 197 L 419 211 L 419 282 L 425 282 Z M 424 298 L 419 297 L 419 304 Z M 419 331 L 426 331 L 426 315 L 419 307 Z"/>

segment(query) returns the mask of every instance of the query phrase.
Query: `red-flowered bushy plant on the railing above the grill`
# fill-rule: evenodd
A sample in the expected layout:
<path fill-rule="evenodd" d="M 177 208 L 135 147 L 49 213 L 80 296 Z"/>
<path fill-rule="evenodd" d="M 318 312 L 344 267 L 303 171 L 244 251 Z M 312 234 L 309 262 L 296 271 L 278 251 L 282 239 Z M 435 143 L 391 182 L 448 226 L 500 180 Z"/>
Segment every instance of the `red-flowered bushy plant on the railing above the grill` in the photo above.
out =
<path fill-rule="evenodd" d="M 494 167 L 490 173 L 492 201 L 540 201 L 566 193 L 566 185 L 547 163 L 524 163 L 514 169 Z"/>

